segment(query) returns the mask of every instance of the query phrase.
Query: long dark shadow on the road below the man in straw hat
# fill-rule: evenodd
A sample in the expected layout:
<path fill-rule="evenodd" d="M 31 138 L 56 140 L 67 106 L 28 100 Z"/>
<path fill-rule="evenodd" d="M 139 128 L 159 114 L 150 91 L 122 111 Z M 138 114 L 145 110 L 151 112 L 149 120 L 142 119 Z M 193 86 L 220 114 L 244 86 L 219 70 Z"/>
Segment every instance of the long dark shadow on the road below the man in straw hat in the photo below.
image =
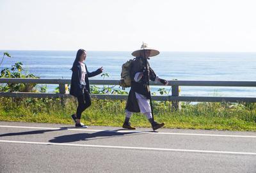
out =
<path fill-rule="evenodd" d="M 72 135 L 63 135 L 60 137 L 54 137 L 54 139 L 49 140 L 49 142 L 54 143 L 64 143 L 64 142 L 76 142 L 80 140 L 97 140 L 97 139 L 106 139 L 113 137 L 124 137 L 125 135 L 139 135 L 140 132 L 118 132 L 120 130 L 104 130 L 95 133 L 76 133 Z"/>

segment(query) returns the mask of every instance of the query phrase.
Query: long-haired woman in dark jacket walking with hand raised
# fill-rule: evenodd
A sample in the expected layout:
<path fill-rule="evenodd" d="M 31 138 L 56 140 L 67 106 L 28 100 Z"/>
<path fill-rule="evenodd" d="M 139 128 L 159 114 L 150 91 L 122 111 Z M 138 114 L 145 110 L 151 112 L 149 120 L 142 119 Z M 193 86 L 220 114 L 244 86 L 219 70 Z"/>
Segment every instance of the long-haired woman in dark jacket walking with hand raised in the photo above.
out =
<path fill-rule="evenodd" d="M 103 68 L 101 67 L 96 71 L 89 72 L 87 70 L 86 64 L 84 64 L 86 56 L 86 51 L 83 49 L 79 49 L 76 54 L 76 59 L 71 68 L 72 78 L 70 94 L 75 96 L 78 101 L 76 114 L 73 114 L 71 117 L 76 123 L 77 128 L 87 128 L 87 126 L 80 122 L 80 119 L 82 112 L 90 107 L 90 105 L 92 104 L 88 77 L 94 77 L 96 75 L 99 75 L 103 71 Z"/>

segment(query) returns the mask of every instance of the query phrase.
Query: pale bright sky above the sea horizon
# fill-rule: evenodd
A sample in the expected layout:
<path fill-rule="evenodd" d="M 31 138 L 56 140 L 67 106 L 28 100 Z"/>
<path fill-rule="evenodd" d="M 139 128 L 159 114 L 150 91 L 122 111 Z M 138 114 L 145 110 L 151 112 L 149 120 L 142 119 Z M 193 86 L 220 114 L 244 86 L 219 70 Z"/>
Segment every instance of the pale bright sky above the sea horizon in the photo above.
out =
<path fill-rule="evenodd" d="M 255 0 L 0 0 L 0 50 L 256 52 Z"/>

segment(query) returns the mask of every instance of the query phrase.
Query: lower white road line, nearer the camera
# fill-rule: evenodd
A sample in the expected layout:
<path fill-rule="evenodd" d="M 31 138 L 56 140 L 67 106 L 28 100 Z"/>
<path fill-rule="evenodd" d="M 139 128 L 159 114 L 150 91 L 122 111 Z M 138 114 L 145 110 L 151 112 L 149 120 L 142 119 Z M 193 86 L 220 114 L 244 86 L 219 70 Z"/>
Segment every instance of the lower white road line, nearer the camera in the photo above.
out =
<path fill-rule="evenodd" d="M 77 147 L 100 147 L 113 149 L 138 149 L 138 150 L 153 150 L 153 151 L 179 151 L 188 153 L 216 153 L 216 154 L 240 154 L 240 155 L 256 155 L 250 152 L 236 152 L 236 151 L 211 151 L 211 150 L 195 150 L 195 149 L 170 149 L 170 148 L 156 148 L 156 147 L 128 147 L 128 146 L 100 146 L 87 144 L 67 144 L 67 143 L 52 143 L 52 142 L 29 142 L 19 140 L 0 140 L 0 142 L 16 143 L 16 144 L 40 144 L 47 146 L 77 146 Z"/>

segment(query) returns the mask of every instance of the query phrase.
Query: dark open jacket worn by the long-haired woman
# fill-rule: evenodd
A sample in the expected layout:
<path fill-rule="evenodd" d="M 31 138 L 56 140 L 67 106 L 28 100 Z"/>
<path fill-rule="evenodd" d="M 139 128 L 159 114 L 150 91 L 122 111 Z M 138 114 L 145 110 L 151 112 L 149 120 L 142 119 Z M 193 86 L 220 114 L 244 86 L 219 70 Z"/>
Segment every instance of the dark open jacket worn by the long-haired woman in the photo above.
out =
<path fill-rule="evenodd" d="M 86 75 L 84 79 L 84 81 L 86 82 L 85 87 L 87 91 L 90 93 L 90 83 L 89 83 L 88 77 L 94 77 L 96 75 L 99 75 L 100 73 L 102 73 L 102 71 L 98 69 L 96 71 L 89 72 L 87 70 L 86 64 L 84 65 L 86 69 Z M 71 86 L 70 86 L 70 94 L 76 97 L 83 94 L 83 89 L 80 83 L 80 79 L 81 79 L 81 65 L 79 64 L 79 62 L 77 62 L 76 64 L 74 64 L 74 69 L 72 70 L 72 78 L 71 78 Z"/>

